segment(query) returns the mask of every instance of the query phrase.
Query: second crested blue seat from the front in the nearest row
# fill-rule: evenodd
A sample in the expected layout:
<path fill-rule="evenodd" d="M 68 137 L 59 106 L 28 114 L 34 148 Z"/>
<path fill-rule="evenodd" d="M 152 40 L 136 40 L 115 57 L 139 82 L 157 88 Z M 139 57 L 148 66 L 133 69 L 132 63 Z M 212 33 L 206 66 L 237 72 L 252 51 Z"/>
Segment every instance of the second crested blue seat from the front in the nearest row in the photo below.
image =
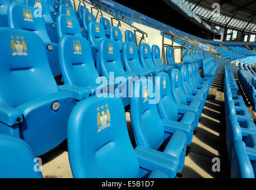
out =
<path fill-rule="evenodd" d="M 156 100 L 151 96 L 153 88 L 153 82 L 146 78 L 135 81 L 134 96 L 130 105 L 135 143 L 137 146 L 154 150 L 164 147 L 163 153 L 179 159 L 178 172 L 181 172 L 184 166 L 187 136 L 184 132 L 173 128 L 172 124 L 162 122 L 157 106 L 153 103 Z M 152 100 L 153 102 L 150 102 Z"/>

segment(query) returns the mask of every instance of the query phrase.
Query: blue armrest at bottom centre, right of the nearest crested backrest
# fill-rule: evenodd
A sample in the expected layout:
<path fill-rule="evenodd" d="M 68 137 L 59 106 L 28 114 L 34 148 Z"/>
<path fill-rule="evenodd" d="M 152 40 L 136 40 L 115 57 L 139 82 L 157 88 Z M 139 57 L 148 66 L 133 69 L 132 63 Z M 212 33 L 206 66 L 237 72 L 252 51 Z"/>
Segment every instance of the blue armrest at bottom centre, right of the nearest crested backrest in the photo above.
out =
<path fill-rule="evenodd" d="M 169 178 L 175 178 L 179 166 L 178 158 L 143 146 L 137 146 L 135 154 L 138 157 L 140 167 L 143 169 L 150 171 L 160 170 L 166 173 Z"/>

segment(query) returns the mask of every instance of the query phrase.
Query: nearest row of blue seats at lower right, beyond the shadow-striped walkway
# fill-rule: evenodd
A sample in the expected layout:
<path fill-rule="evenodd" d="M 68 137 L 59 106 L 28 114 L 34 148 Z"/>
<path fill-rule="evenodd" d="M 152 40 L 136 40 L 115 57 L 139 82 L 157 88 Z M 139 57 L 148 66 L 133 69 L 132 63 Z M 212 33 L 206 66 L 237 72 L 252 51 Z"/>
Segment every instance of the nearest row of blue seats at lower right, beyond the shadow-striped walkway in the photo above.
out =
<path fill-rule="evenodd" d="M 226 143 L 231 178 L 254 178 L 256 159 L 256 127 L 242 96 L 232 93 L 230 85 L 236 83 L 233 72 L 224 69 Z"/>

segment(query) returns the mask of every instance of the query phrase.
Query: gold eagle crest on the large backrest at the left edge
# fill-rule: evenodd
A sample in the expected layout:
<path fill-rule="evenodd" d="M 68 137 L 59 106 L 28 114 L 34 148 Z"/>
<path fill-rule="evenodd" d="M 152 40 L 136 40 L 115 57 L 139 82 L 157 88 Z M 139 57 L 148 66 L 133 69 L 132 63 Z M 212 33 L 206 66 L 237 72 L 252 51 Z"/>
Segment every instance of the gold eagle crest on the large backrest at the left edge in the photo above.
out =
<path fill-rule="evenodd" d="M 27 56 L 27 45 L 26 42 L 24 41 L 24 37 L 11 36 L 11 50 L 12 55 Z"/>

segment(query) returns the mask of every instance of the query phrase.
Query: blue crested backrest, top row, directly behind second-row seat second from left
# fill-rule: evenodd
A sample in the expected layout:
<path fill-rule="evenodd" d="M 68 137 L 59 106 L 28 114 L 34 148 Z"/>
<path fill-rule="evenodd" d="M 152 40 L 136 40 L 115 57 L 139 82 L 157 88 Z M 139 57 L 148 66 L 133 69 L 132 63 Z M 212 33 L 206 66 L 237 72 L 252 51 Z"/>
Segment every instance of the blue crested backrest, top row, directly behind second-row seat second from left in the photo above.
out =
<path fill-rule="evenodd" d="M 58 15 L 57 31 L 59 39 L 66 35 L 82 36 L 77 18 L 66 14 Z"/>

